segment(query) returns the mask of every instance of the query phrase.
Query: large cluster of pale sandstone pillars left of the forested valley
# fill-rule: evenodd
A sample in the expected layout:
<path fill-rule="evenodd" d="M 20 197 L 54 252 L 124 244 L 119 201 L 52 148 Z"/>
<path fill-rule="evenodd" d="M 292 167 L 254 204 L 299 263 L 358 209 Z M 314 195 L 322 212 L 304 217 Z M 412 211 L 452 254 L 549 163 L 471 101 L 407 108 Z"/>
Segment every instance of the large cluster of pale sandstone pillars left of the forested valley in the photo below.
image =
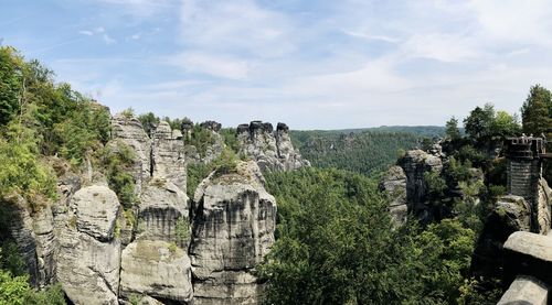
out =
<path fill-rule="evenodd" d="M 181 132 L 161 122 L 150 139 L 135 118 L 112 122 L 107 145 L 135 155 L 136 203 L 124 209 L 87 162 L 59 177 L 56 203 L 32 211 L 15 196 L 2 209 L 10 229 L 0 233 L 18 244 L 32 284 L 60 282 L 73 304 L 257 304 L 253 271 L 274 243 L 276 203 L 256 163 L 213 173 L 192 207 Z"/>

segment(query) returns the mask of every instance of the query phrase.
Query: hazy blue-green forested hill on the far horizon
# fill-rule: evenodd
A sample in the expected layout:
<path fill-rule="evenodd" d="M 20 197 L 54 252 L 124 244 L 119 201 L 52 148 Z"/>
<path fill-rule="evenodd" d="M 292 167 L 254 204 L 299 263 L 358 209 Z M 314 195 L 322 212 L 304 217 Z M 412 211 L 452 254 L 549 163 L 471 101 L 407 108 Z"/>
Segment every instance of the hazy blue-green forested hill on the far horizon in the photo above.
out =
<path fill-rule="evenodd" d="M 400 150 L 420 146 L 422 139 L 442 137 L 444 127 L 390 126 L 347 130 L 291 131 L 294 145 L 318 167 L 337 167 L 362 174 L 385 170 Z"/>

